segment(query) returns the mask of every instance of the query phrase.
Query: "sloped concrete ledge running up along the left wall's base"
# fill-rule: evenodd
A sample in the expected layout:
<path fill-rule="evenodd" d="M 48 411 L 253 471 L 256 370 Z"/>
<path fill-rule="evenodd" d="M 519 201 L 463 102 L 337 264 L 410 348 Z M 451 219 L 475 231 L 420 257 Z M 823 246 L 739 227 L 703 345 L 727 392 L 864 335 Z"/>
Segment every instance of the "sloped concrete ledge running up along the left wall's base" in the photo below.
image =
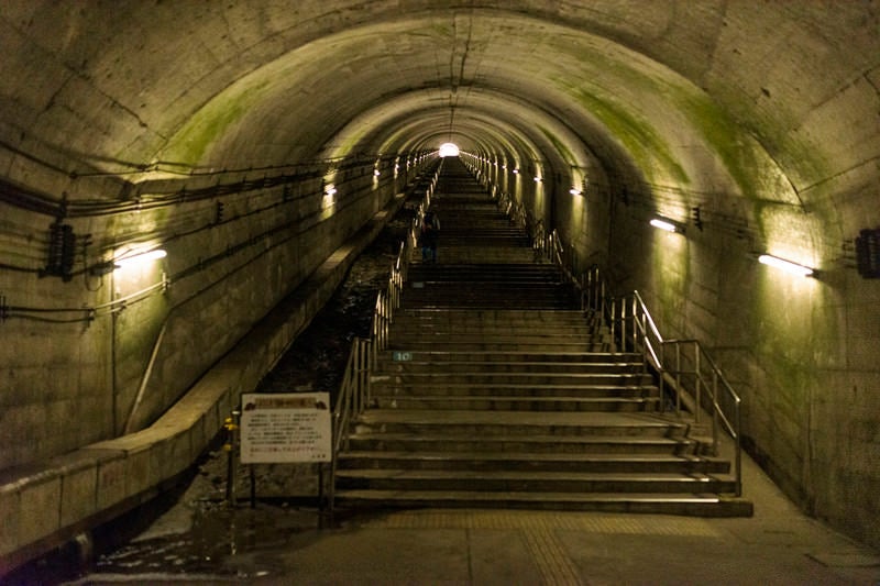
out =
<path fill-rule="evenodd" d="M 403 206 L 398 194 L 150 428 L 0 472 L 0 576 L 173 485 Z"/>

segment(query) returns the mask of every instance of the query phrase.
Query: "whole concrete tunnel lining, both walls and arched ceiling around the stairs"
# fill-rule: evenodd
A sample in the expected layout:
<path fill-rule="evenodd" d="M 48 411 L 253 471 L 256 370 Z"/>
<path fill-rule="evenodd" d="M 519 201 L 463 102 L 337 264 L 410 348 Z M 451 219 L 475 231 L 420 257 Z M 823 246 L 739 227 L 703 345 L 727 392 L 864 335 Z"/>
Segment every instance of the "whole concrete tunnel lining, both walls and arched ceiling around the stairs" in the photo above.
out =
<path fill-rule="evenodd" d="M 4 0 L 0 47 L 0 557 L 189 466 L 447 144 L 880 546 L 876 1 Z"/>

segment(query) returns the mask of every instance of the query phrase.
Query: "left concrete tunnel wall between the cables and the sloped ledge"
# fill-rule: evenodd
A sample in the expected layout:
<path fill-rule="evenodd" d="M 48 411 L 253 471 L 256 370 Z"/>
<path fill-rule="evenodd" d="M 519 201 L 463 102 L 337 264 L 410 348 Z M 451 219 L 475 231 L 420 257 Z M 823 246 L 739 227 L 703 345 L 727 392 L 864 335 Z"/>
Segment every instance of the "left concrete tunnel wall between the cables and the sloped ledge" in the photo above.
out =
<path fill-rule="evenodd" d="M 333 201 L 319 180 L 302 179 L 301 186 L 69 219 L 79 240 L 70 280 L 40 274 L 51 220 L 3 206 L 10 233 L 37 237 L 0 243 L 4 256 L 30 265 L 0 276 L 13 308 L 3 334 L 15 341 L 0 345 L 0 387 L 8 389 L 0 394 L 0 468 L 154 421 L 391 200 L 398 185 L 374 180 L 372 172 L 340 181 Z M 299 195 L 285 199 L 285 187 Z M 220 221 L 217 201 L 224 202 Z M 168 255 L 89 275 L 89 267 L 128 247 L 128 237 L 139 246 L 161 244 Z M 156 287 L 163 278 L 167 288 Z M 77 310 L 84 307 L 94 310 Z M 58 308 L 76 311 L 46 311 Z"/>

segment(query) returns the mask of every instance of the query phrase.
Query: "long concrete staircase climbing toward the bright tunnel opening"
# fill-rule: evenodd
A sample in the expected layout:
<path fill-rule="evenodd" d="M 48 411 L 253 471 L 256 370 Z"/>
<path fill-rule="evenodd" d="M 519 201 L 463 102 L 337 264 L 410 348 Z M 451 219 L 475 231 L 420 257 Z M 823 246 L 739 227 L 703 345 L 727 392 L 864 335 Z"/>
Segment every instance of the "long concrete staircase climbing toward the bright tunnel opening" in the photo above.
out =
<path fill-rule="evenodd" d="M 644 357 L 614 352 L 459 159 L 432 208 L 439 258 L 415 251 L 338 458 L 340 505 L 751 515 L 730 463 L 661 413 Z"/>

